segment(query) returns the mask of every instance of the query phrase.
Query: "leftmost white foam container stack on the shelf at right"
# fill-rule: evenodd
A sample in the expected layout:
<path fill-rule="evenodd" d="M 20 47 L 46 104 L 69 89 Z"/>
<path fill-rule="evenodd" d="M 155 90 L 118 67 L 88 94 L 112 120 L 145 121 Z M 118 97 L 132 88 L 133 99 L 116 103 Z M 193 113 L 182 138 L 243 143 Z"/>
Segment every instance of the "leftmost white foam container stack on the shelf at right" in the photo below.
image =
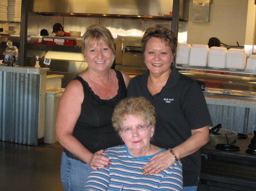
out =
<path fill-rule="evenodd" d="M 207 66 L 209 46 L 204 44 L 193 44 L 189 54 L 189 65 Z"/>

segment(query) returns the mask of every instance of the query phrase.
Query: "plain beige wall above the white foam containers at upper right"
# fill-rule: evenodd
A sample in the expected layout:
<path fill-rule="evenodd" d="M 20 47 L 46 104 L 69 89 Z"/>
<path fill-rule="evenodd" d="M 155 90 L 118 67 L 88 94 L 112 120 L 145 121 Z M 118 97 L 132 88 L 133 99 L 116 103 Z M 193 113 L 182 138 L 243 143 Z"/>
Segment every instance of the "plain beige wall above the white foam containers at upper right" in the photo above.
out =
<path fill-rule="evenodd" d="M 210 37 L 221 43 L 245 44 L 247 0 L 212 0 L 209 22 L 192 22 L 193 0 L 189 1 L 188 44 L 208 44 Z"/>

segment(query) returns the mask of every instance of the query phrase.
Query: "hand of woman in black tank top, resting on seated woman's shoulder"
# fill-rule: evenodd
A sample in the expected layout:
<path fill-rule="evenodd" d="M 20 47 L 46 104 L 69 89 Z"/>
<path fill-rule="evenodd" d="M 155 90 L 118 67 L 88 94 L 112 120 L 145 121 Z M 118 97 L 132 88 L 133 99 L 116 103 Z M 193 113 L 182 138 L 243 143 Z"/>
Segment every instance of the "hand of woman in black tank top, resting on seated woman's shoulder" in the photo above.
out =
<path fill-rule="evenodd" d="M 110 165 L 111 160 L 103 155 L 105 155 L 104 150 L 97 151 L 94 154 L 90 155 L 88 162 L 90 168 L 98 170 L 98 167 L 106 168 L 108 165 Z"/>

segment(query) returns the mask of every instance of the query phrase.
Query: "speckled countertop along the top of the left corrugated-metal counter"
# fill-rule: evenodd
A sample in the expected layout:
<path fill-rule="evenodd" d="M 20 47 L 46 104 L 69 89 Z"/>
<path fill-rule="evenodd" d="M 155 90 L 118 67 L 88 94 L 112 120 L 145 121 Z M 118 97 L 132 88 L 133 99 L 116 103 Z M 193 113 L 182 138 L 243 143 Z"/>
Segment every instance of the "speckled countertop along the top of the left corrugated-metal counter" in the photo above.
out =
<path fill-rule="evenodd" d="M 48 70 L 49 68 L 46 68 L 46 67 L 40 67 L 39 69 L 36 69 L 35 67 L 0 65 L 0 71 L 10 72 L 10 73 L 43 74 L 43 73 L 46 73 Z"/>

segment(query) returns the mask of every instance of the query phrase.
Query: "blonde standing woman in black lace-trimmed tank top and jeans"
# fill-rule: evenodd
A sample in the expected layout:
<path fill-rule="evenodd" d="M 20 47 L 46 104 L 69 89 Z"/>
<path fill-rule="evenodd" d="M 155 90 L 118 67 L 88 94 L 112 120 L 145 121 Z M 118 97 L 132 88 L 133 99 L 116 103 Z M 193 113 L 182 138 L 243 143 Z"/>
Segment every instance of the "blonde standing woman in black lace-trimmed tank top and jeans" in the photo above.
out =
<path fill-rule="evenodd" d="M 73 79 L 60 99 L 56 117 L 57 141 L 64 147 L 61 181 L 64 190 L 82 190 L 92 169 L 110 165 L 104 149 L 121 145 L 111 117 L 127 96 L 129 76 L 110 69 L 115 58 L 109 29 L 94 24 L 82 36 L 88 68 Z"/>

